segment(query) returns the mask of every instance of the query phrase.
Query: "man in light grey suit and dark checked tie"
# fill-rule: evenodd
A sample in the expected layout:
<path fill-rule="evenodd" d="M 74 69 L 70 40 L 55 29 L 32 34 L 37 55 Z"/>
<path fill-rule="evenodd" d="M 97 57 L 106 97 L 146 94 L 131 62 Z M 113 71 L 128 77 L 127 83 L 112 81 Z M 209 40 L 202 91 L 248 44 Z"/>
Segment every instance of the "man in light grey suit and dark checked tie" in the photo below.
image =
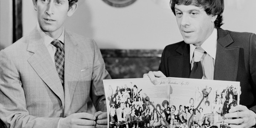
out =
<path fill-rule="evenodd" d="M 32 1 L 38 25 L 0 51 L 0 119 L 8 128 L 106 127 L 102 55 L 63 25 L 78 0 Z"/>

